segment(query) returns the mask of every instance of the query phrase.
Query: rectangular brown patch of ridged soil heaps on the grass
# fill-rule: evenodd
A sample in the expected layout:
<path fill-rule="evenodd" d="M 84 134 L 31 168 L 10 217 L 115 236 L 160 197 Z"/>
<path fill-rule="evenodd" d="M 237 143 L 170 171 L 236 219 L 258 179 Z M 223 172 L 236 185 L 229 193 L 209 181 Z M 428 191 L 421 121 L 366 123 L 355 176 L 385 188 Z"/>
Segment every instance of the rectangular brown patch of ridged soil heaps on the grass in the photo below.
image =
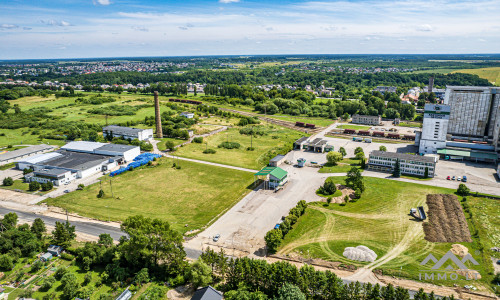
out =
<path fill-rule="evenodd" d="M 472 242 L 462 206 L 455 195 L 427 195 L 429 222 L 425 222 L 425 239 L 429 242 Z"/>

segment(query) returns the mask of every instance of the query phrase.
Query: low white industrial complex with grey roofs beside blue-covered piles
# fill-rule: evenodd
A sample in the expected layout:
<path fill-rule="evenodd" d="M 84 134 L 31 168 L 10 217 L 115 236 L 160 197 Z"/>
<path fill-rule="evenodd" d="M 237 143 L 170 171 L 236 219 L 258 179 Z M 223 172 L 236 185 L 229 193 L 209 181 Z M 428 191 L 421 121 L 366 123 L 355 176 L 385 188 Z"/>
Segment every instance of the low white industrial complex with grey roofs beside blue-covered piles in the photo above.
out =
<path fill-rule="evenodd" d="M 31 168 L 26 181 L 52 182 L 55 186 L 67 184 L 108 171 L 119 164 L 132 161 L 140 154 L 138 146 L 104 144 L 96 142 L 71 142 L 60 150 L 35 155 L 18 161 L 20 170 Z"/>

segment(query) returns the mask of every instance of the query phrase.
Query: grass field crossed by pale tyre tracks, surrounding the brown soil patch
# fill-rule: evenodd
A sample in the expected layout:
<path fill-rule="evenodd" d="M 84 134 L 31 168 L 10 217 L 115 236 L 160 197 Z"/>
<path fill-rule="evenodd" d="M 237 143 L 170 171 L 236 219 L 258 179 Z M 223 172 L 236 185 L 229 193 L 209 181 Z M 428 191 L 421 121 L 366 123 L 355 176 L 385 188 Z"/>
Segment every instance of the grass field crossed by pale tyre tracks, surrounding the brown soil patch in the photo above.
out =
<path fill-rule="evenodd" d="M 343 183 L 343 177 L 338 177 Z M 420 262 L 430 253 L 441 257 L 452 243 L 431 243 L 424 240 L 422 224 L 408 213 L 412 207 L 425 205 L 427 194 L 453 193 L 454 190 L 379 178 L 365 178 L 366 191 L 361 199 L 345 206 L 312 203 L 285 237 L 279 253 L 298 253 L 303 257 L 339 261 L 356 266 L 381 269 L 385 274 L 418 279 Z M 492 264 L 485 254 L 500 240 L 499 204 L 495 200 L 469 197 L 469 205 L 479 227 L 479 236 L 472 243 L 460 243 L 480 263 L 474 266 L 483 279 L 474 286 L 486 286 L 492 279 Z M 481 207 L 485 207 L 480 212 Z M 469 224 L 469 228 L 471 225 Z M 342 254 L 345 247 L 365 245 L 377 253 L 383 263 L 356 262 Z M 490 253 L 491 254 L 491 253 Z M 384 260 L 387 255 L 390 259 Z M 499 256 L 498 254 L 496 254 Z M 438 280 L 435 284 L 461 286 L 470 281 Z"/>

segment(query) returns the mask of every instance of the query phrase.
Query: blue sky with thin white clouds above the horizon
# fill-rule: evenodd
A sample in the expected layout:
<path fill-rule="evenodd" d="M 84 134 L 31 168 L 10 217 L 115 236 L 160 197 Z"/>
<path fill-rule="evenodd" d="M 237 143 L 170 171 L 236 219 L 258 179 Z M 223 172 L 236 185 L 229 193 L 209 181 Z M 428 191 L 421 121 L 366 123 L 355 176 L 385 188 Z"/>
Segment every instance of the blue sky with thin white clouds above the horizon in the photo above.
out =
<path fill-rule="evenodd" d="M 0 60 L 500 52 L 500 0 L 0 0 Z"/>

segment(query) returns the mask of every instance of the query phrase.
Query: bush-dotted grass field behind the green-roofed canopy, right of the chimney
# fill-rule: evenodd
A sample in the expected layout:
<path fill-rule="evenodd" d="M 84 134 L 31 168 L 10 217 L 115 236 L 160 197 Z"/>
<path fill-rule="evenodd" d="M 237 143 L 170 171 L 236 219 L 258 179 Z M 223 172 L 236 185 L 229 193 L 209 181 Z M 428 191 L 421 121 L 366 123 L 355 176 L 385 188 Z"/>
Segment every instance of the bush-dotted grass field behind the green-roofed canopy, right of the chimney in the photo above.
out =
<path fill-rule="evenodd" d="M 250 135 L 240 134 L 238 128 L 230 128 L 205 138 L 202 144 L 191 143 L 184 147 L 180 147 L 175 152 L 175 155 L 258 170 L 268 163 L 268 161 L 264 159 L 268 151 L 272 151 L 276 147 L 292 145 L 295 140 L 302 136 L 300 132 L 283 127 L 269 125 L 266 126 L 266 128 L 268 134 L 264 136 L 254 136 L 253 141 Z M 219 144 L 226 141 L 237 142 L 241 147 L 239 149 L 224 149 L 217 147 Z M 252 145 L 255 150 L 247 150 L 250 145 Z M 216 153 L 203 153 L 206 148 L 214 149 Z"/>

